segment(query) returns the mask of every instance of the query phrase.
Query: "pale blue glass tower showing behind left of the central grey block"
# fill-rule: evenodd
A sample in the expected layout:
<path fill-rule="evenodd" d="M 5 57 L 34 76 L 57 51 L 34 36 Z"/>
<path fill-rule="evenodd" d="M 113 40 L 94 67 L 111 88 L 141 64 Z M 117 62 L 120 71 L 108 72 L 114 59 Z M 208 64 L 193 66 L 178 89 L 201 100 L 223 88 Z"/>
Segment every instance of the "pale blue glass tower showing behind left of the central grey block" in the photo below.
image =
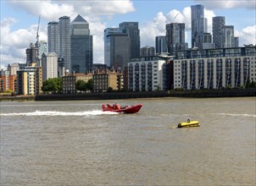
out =
<path fill-rule="evenodd" d="M 110 67 L 110 37 L 109 34 L 120 33 L 119 28 L 107 28 L 104 30 L 104 63 Z"/>

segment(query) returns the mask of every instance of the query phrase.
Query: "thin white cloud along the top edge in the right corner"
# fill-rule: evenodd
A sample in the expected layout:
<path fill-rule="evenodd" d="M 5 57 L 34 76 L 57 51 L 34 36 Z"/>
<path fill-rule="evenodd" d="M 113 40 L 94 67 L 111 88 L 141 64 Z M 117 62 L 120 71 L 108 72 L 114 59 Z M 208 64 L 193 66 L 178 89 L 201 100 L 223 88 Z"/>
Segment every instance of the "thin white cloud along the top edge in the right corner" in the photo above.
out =
<path fill-rule="evenodd" d="M 209 9 L 231 9 L 231 8 L 248 8 L 255 9 L 255 0 L 220 0 L 220 1 L 205 1 L 195 0 L 195 3 L 203 4 Z"/>

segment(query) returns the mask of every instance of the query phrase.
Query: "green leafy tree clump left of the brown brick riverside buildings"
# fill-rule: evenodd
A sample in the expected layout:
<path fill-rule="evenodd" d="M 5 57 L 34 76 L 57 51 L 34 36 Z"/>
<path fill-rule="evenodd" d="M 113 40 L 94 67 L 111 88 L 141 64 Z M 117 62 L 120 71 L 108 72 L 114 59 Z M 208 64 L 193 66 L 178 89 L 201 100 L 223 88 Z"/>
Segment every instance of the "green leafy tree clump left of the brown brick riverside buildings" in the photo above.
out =
<path fill-rule="evenodd" d="M 62 91 L 62 79 L 53 78 L 47 79 L 42 82 L 43 92 L 61 92 Z"/>

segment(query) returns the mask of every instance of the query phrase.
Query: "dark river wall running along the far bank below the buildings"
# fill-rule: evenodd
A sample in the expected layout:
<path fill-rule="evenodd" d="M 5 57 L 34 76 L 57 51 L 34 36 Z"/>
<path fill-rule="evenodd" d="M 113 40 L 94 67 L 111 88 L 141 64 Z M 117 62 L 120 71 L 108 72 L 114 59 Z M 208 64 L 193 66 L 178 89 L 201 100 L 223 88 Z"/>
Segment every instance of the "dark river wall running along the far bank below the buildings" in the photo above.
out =
<path fill-rule="evenodd" d="M 75 95 L 0 96 L 0 101 L 69 101 L 69 100 L 115 100 L 153 97 L 241 97 L 256 96 L 256 89 L 223 90 L 169 90 L 149 92 L 104 92 Z"/>

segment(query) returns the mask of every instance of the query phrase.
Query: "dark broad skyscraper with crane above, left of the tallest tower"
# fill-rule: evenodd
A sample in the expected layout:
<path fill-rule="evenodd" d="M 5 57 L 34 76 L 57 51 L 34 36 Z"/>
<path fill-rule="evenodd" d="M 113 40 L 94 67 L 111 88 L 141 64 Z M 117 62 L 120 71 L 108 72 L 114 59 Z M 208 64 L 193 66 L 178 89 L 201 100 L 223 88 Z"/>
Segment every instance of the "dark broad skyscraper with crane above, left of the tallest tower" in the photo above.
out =
<path fill-rule="evenodd" d="M 170 55 L 175 55 L 175 51 L 185 50 L 185 24 L 166 25 L 166 46 Z"/>

